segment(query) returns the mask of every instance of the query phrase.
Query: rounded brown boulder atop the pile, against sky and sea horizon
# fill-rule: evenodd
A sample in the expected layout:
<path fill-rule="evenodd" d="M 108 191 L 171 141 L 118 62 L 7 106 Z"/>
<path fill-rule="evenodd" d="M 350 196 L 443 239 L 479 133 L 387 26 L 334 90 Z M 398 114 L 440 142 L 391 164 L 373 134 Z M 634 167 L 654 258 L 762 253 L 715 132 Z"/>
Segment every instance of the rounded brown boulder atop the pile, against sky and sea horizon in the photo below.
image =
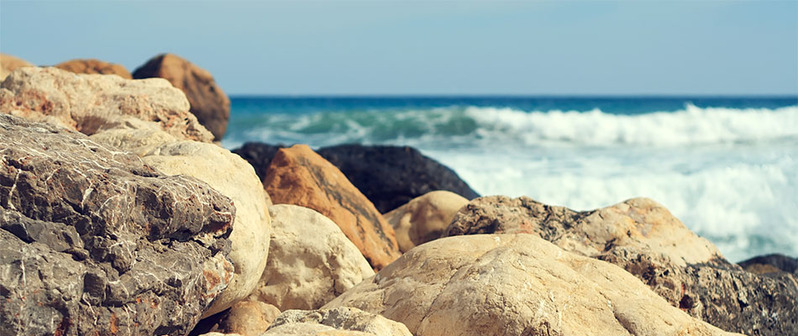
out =
<path fill-rule="evenodd" d="M 191 113 L 221 140 L 230 119 L 230 98 L 216 85 L 210 72 L 174 54 L 161 54 L 133 72 L 133 78 L 159 77 L 185 92 Z"/>

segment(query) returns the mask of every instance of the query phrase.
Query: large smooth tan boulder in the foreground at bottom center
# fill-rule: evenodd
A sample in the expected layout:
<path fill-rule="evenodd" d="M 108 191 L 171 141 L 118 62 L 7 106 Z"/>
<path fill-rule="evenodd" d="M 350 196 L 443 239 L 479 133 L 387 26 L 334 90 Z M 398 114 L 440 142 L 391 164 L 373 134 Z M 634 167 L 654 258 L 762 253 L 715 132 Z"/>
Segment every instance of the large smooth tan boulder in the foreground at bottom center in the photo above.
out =
<path fill-rule="evenodd" d="M 530 234 L 420 245 L 331 301 L 414 335 L 726 335 L 623 269 Z M 279 320 L 279 318 L 278 318 Z"/>

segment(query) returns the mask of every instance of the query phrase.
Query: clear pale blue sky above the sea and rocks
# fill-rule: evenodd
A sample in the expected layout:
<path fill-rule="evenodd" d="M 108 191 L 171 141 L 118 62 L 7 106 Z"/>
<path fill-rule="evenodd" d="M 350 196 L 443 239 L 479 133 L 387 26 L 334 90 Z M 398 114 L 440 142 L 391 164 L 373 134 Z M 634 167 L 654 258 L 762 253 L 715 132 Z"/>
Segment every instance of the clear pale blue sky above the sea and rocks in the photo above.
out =
<path fill-rule="evenodd" d="M 0 52 L 171 52 L 230 95 L 796 95 L 798 0 L 0 0 Z"/>

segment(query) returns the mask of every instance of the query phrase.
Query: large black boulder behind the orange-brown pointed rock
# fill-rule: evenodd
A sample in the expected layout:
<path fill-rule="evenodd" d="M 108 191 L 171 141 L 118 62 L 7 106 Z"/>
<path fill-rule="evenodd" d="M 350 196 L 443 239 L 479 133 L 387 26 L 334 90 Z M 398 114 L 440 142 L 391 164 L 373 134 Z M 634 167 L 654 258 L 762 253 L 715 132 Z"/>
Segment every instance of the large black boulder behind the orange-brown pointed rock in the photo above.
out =
<path fill-rule="evenodd" d="M 386 213 L 430 191 L 479 197 L 448 167 L 412 147 L 340 145 L 319 149 L 360 191 Z"/>

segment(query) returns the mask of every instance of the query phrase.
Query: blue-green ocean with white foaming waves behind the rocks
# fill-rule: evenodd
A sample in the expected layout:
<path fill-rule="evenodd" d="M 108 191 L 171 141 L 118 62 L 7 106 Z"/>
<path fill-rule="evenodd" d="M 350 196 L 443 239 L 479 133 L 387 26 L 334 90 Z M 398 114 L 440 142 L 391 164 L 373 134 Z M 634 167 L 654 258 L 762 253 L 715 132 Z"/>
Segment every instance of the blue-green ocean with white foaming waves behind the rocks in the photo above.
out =
<path fill-rule="evenodd" d="M 222 144 L 409 145 L 482 195 L 665 205 L 733 262 L 798 256 L 798 97 L 233 97 Z"/>

